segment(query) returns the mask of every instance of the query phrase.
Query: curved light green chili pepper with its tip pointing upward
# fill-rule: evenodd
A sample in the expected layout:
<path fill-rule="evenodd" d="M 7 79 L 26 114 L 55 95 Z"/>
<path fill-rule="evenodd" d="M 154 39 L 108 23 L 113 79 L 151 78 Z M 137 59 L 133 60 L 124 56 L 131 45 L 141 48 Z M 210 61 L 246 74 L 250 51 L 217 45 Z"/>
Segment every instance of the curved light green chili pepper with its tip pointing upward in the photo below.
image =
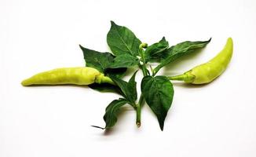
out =
<path fill-rule="evenodd" d="M 224 49 L 210 61 L 200 64 L 182 75 L 168 77 L 170 80 L 180 80 L 192 84 L 204 84 L 213 81 L 227 68 L 233 52 L 232 38 L 228 38 Z"/>

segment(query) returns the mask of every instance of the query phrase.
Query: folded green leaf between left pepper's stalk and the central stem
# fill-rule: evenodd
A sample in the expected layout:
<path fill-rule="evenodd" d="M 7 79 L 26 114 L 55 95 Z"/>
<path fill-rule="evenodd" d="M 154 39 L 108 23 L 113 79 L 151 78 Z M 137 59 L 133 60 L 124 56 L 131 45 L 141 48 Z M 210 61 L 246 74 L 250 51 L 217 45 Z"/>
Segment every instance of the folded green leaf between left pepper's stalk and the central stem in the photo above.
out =
<path fill-rule="evenodd" d="M 137 100 L 137 89 L 135 82 L 136 72 L 133 74 L 129 82 L 125 82 L 122 79 L 119 79 L 113 75 L 109 75 L 109 77 L 115 82 L 117 86 L 122 90 L 122 93 L 126 100 L 129 101 L 129 104 L 135 105 L 135 101 Z"/>

